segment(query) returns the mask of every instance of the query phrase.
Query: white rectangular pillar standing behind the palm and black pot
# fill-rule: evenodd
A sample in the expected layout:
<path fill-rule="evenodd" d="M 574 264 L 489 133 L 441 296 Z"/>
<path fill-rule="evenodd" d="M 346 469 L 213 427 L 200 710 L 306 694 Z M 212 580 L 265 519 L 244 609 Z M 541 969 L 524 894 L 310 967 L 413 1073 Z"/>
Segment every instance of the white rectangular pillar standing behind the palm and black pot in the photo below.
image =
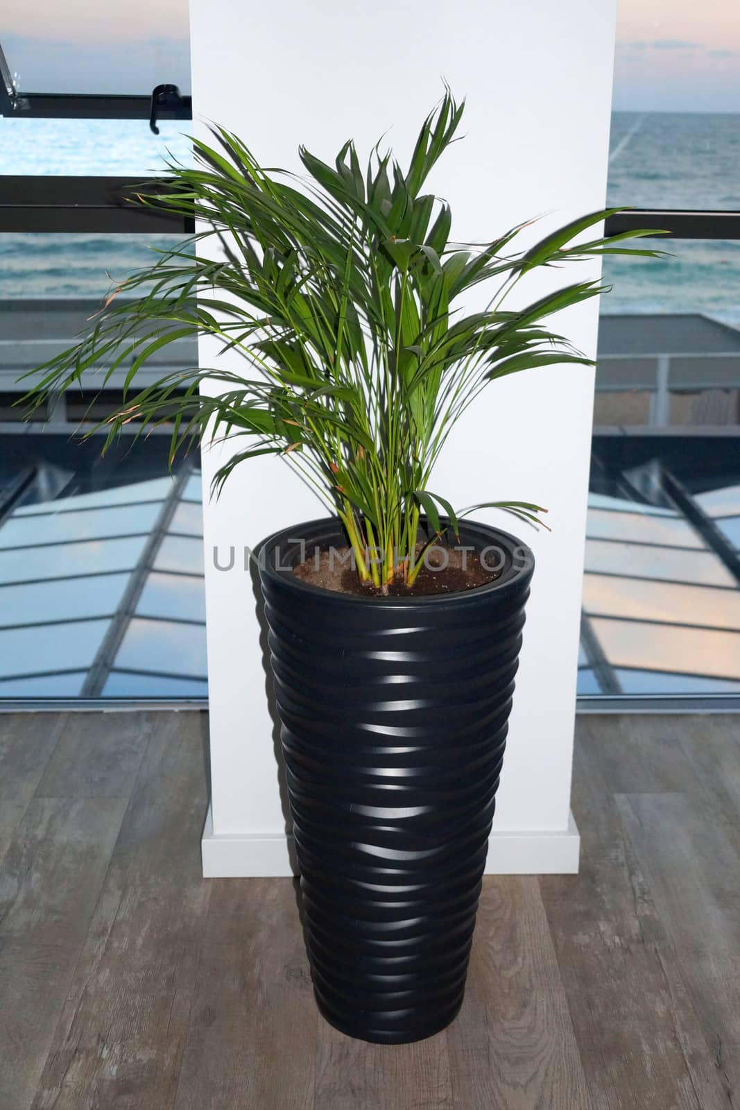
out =
<path fill-rule="evenodd" d="M 386 141 L 402 162 L 443 91 L 467 95 L 462 132 L 429 186 L 453 208 L 453 234 L 490 240 L 535 215 L 528 240 L 605 203 L 616 0 L 191 0 L 195 127 L 216 120 L 266 165 L 300 169 L 296 148 L 332 161 L 354 138 Z M 596 263 L 533 275 L 527 301 Z M 596 352 L 594 300 L 553 321 Z M 212 364 L 203 341 L 201 360 Z M 469 410 L 435 473 L 456 505 L 519 498 L 549 508 L 553 533 L 511 517 L 537 558 L 488 870 L 577 869 L 569 818 L 594 374 L 531 371 L 495 383 Z M 206 478 L 215 453 L 205 452 Z M 244 545 L 324 515 L 280 461 L 255 460 L 205 507 L 213 801 L 206 875 L 288 874 L 285 819 L 265 695 L 260 626 Z M 233 569 L 217 571 L 236 551 Z"/>

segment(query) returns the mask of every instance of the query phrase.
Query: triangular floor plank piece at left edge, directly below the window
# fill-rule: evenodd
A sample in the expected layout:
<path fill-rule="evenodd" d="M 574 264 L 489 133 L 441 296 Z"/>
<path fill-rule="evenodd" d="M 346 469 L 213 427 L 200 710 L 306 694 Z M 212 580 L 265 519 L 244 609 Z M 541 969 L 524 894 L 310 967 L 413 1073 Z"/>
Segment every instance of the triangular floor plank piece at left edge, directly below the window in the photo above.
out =
<path fill-rule="evenodd" d="M 67 723 L 59 713 L 0 714 L 0 861 Z"/>

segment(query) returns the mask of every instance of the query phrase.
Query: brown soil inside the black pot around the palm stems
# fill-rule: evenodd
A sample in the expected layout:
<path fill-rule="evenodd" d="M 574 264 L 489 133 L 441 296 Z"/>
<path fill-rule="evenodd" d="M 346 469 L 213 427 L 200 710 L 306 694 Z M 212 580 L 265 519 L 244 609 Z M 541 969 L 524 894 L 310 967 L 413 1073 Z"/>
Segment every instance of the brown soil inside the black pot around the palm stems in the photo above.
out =
<path fill-rule="evenodd" d="M 417 548 L 420 556 L 422 545 Z M 445 555 L 447 559 L 445 559 Z M 343 563 L 343 559 L 346 562 Z M 496 553 L 489 552 L 487 562 L 496 565 Z M 293 574 L 312 586 L 322 586 L 339 594 L 356 594 L 361 597 L 427 597 L 433 594 L 459 594 L 476 586 L 485 586 L 500 578 L 500 569 L 489 569 L 480 563 L 477 552 L 462 552 L 455 547 L 435 544 L 426 553 L 425 565 L 416 582 L 407 588 L 399 577 L 388 585 L 387 595 L 372 584 L 359 581 L 356 569 L 349 563 L 349 548 L 335 547 L 332 553 L 320 551 L 293 567 Z"/>

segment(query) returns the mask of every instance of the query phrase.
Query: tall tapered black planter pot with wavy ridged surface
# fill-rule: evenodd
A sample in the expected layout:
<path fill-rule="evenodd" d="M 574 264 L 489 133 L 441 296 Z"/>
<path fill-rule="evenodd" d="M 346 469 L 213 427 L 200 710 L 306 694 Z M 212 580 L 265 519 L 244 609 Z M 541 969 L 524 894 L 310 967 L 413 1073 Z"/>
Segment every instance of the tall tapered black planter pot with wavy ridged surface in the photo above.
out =
<path fill-rule="evenodd" d="M 466 523 L 496 582 L 356 597 L 296 578 L 297 538 L 345 541 L 314 521 L 257 551 L 316 1000 L 352 1037 L 420 1040 L 463 1001 L 534 557 Z"/>

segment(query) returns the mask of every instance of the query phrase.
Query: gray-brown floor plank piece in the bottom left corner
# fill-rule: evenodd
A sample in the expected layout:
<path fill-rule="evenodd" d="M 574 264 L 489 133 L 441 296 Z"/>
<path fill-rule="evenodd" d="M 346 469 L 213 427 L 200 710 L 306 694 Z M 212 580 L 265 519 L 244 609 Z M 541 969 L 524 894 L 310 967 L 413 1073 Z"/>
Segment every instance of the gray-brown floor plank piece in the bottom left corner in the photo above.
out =
<path fill-rule="evenodd" d="M 0 938 L 0 1107 L 28 1110 L 79 955 Z"/>

